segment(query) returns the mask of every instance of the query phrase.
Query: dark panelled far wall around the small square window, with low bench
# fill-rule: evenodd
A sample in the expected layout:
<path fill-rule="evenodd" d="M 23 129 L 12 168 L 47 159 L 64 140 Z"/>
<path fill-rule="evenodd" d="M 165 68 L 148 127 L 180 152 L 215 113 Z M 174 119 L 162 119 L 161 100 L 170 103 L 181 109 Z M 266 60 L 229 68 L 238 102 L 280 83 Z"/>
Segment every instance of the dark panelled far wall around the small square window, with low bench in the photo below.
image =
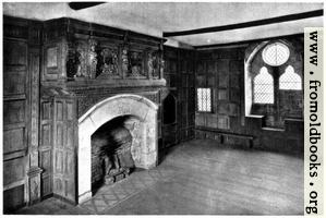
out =
<path fill-rule="evenodd" d="M 196 87 L 213 90 L 213 111 L 196 112 L 196 138 L 216 140 L 236 147 L 303 154 L 303 120 L 286 119 L 283 130 L 271 130 L 264 128 L 264 114 L 245 116 L 247 48 L 245 45 L 196 52 Z"/>

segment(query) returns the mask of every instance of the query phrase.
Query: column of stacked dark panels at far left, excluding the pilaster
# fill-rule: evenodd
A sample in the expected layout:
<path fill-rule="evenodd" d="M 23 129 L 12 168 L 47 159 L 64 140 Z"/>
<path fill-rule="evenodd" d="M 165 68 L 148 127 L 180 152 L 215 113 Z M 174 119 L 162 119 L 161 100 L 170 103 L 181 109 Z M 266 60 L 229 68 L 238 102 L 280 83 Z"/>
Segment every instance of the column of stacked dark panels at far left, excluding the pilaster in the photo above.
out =
<path fill-rule="evenodd" d="M 22 206 L 28 194 L 28 22 L 5 17 L 3 36 L 3 208 L 8 211 Z"/>

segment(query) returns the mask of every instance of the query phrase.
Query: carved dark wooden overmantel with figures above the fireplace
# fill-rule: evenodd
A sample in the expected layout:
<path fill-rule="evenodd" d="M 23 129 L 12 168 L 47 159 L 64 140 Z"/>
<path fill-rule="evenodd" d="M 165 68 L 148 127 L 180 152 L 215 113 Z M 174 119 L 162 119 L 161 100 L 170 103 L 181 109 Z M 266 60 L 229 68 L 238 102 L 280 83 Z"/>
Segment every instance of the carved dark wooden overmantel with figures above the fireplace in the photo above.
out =
<path fill-rule="evenodd" d="M 43 82 L 162 80 L 164 41 L 72 19 L 47 21 Z"/>

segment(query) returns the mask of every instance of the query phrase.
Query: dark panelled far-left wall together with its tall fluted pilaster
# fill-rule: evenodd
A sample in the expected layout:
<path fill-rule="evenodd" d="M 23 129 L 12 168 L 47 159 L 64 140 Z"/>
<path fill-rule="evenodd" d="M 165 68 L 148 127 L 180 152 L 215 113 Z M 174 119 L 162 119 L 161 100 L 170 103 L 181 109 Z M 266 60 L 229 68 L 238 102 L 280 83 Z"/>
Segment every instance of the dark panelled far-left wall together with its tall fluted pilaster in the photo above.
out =
<path fill-rule="evenodd" d="M 40 29 L 38 22 L 3 20 L 4 211 L 39 198 Z"/>

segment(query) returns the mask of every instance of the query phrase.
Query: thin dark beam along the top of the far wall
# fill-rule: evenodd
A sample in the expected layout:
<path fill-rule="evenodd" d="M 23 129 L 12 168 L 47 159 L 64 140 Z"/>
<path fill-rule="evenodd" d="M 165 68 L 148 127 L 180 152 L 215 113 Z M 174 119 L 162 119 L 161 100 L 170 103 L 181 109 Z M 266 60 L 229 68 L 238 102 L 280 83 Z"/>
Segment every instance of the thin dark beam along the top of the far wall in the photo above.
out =
<path fill-rule="evenodd" d="M 303 37 L 303 36 L 304 36 L 304 34 L 300 33 L 300 34 L 291 34 L 291 35 L 283 35 L 283 36 L 274 36 L 274 37 L 266 37 L 266 38 L 242 40 L 242 41 L 232 41 L 232 43 L 228 43 L 228 44 L 213 44 L 213 45 L 193 46 L 193 47 L 196 50 L 214 49 L 214 48 L 219 48 L 219 47 L 241 46 L 241 45 L 247 45 L 247 44 L 266 41 L 266 40 L 291 39 L 291 38 L 298 38 L 298 37 Z"/>

